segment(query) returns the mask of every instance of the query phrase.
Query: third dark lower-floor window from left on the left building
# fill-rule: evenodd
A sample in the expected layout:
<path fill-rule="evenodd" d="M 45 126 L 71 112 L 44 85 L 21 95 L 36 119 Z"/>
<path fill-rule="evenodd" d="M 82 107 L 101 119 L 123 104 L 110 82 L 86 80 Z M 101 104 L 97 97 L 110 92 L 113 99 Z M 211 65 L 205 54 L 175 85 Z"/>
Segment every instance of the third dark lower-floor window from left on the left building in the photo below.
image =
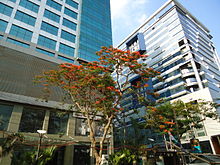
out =
<path fill-rule="evenodd" d="M 69 115 L 50 112 L 48 133 L 49 134 L 65 134 L 67 129 Z"/>

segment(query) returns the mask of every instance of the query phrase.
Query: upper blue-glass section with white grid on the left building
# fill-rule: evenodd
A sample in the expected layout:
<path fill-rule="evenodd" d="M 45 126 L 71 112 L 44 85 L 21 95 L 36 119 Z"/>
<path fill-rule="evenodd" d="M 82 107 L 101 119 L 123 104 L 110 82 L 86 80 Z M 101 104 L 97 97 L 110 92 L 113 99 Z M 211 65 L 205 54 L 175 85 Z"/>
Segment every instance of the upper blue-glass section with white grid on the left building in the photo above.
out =
<path fill-rule="evenodd" d="M 0 0 L 0 16 L 1 40 L 58 63 L 95 61 L 112 45 L 109 0 Z"/>

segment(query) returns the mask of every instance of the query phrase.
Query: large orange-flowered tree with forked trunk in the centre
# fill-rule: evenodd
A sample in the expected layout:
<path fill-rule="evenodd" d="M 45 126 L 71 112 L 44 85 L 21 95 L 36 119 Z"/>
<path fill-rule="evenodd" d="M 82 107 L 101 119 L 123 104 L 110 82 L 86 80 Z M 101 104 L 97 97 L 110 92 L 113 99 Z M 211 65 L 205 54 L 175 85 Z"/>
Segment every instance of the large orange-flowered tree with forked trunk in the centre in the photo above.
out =
<path fill-rule="evenodd" d="M 99 62 L 83 65 L 64 63 L 57 70 L 37 76 L 37 82 L 45 86 L 47 97 L 52 86 L 61 88 L 65 99 L 71 101 L 71 110 L 77 110 L 86 118 L 90 128 L 91 147 L 98 165 L 101 163 L 103 144 L 112 121 L 123 110 L 120 108 L 120 101 L 123 93 L 130 86 L 129 79 L 134 75 L 140 76 L 142 83 L 138 83 L 135 89 L 145 88 L 146 81 L 158 75 L 158 72 L 142 63 L 142 59 L 147 56 L 139 52 L 102 47 L 97 55 L 100 57 Z M 134 93 L 137 90 L 130 88 L 129 91 Z M 99 150 L 96 149 L 97 138 L 93 128 L 94 120 L 98 115 L 101 117 L 100 122 L 103 123 Z"/>

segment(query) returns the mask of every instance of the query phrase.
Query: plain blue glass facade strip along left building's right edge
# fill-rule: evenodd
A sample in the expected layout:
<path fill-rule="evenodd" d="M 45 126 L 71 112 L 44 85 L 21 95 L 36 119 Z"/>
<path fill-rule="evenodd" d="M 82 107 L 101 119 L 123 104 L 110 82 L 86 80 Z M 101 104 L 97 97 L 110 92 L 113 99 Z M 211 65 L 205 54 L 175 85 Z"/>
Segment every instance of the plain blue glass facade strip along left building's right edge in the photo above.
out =
<path fill-rule="evenodd" d="M 79 57 L 97 61 L 95 52 L 112 45 L 110 1 L 83 1 L 81 14 Z"/>

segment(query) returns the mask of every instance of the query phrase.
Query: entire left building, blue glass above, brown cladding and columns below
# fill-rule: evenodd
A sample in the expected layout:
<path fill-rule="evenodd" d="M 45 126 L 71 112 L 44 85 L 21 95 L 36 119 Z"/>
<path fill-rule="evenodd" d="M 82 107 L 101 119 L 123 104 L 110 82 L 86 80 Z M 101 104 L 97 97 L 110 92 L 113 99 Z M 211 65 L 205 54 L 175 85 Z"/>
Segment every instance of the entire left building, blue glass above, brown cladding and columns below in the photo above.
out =
<path fill-rule="evenodd" d="M 89 164 L 84 117 L 70 111 L 57 115 L 70 107 L 63 93 L 54 89 L 42 102 L 42 86 L 33 79 L 63 62 L 97 60 L 95 52 L 109 45 L 110 0 L 0 0 L 0 140 L 20 132 L 29 144 L 38 144 L 37 130 L 43 129 L 42 144 L 59 145 L 50 164 Z M 16 164 L 9 155 L 0 164 L 11 162 Z"/>

